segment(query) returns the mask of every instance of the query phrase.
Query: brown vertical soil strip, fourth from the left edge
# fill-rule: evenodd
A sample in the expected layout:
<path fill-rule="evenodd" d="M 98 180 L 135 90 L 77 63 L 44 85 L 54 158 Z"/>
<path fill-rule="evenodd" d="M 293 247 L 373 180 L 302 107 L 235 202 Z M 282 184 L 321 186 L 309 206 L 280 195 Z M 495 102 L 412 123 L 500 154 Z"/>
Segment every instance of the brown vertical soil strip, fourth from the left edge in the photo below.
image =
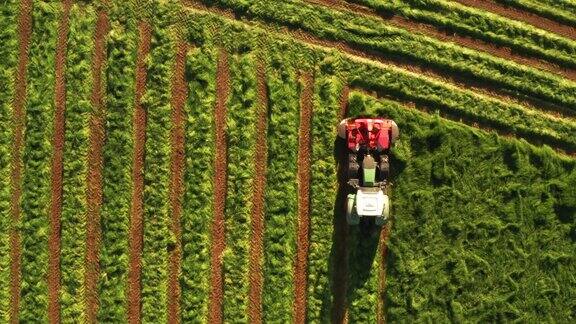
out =
<path fill-rule="evenodd" d="M 138 57 L 136 59 L 136 91 L 134 105 L 134 164 L 132 166 L 132 204 L 130 210 L 130 265 L 128 268 L 128 321 L 140 323 L 143 235 L 143 190 L 144 190 L 144 145 L 146 143 L 146 110 L 141 99 L 146 90 L 146 57 L 150 52 L 152 30 L 150 25 L 140 22 L 138 25 Z"/>

